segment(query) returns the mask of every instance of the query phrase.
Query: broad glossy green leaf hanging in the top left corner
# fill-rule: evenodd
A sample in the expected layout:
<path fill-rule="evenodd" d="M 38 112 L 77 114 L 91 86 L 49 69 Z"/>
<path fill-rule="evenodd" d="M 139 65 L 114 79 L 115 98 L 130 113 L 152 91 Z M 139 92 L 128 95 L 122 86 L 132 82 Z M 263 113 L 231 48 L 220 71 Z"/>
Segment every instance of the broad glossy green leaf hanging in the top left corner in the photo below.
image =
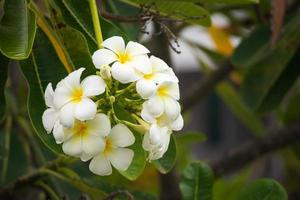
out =
<path fill-rule="evenodd" d="M 36 31 L 36 16 L 26 0 L 6 0 L 0 22 L 0 51 L 6 57 L 28 58 Z"/>

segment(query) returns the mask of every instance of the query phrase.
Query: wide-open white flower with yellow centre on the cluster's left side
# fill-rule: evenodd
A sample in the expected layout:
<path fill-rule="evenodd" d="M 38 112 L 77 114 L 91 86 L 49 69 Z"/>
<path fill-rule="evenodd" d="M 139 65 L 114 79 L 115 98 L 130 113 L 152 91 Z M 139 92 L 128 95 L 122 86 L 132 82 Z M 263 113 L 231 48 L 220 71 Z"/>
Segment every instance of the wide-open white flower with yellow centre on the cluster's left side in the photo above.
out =
<path fill-rule="evenodd" d="M 54 106 L 60 109 L 60 123 L 67 127 L 74 125 L 75 119 L 80 121 L 93 119 L 97 105 L 90 97 L 105 91 L 105 82 L 100 76 L 91 75 L 80 82 L 84 68 L 70 73 L 57 84 L 54 91 Z"/>

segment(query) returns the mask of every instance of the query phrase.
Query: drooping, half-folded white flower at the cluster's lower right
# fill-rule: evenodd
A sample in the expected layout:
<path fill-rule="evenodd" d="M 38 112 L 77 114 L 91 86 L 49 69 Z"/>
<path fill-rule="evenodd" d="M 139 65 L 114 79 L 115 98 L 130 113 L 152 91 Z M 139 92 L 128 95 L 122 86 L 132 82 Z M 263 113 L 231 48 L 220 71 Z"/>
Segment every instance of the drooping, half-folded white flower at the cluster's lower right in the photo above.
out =
<path fill-rule="evenodd" d="M 163 157 L 169 147 L 172 131 L 168 127 L 159 127 L 152 124 L 149 131 L 144 135 L 143 148 L 149 152 L 150 161 Z"/>

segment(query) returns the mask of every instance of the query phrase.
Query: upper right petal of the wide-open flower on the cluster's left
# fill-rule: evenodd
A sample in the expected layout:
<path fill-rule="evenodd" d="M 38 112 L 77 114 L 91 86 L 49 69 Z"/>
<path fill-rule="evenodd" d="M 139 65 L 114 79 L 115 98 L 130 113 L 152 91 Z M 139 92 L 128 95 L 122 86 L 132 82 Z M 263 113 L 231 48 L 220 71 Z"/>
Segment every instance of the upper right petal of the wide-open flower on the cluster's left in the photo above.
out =
<path fill-rule="evenodd" d="M 100 76 L 97 75 L 86 77 L 81 82 L 81 86 L 85 96 L 96 96 L 105 91 L 105 82 Z"/>

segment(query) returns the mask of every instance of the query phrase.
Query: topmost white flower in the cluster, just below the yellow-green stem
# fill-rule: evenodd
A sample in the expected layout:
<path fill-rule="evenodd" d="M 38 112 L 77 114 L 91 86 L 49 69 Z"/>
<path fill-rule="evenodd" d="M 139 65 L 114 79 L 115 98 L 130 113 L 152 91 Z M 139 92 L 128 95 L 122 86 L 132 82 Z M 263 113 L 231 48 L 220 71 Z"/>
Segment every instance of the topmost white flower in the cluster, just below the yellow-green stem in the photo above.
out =
<path fill-rule="evenodd" d="M 113 36 L 103 41 L 103 49 L 97 50 L 93 56 L 93 63 L 100 69 L 102 65 L 112 64 L 111 72 L 114 79 L 121 83 L 134 82 L 142 74 L 151 72 L 148 58 L 149 50 L 137 42 L 125 42 L 122 37 Z"/>

